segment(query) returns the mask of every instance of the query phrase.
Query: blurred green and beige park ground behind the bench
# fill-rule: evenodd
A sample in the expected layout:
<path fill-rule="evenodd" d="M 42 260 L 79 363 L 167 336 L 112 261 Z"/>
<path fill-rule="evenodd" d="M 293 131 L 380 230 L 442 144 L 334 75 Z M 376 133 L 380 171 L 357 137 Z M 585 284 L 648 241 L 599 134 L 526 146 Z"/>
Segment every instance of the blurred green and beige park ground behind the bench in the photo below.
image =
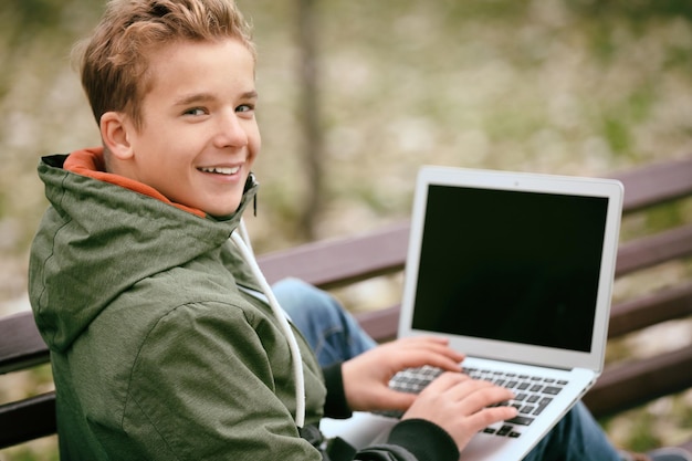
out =
<path fill-rule="evenodd" d="M 407 219 L 423 164 L 607 176 L 692 154 L 689 0 L 238 2 L 259 49 L 258 253 Z M 70 51 L 103 7 L 0 3 L 0 315 L 29 308 L 39 158 L 99 144 Z M 50 386 L 3 378 L 0 404 Z M 601 422 L 646 449 L 692 437 L 691 408 Z M 54 438 L 0 450 L 54 459 Z"/>

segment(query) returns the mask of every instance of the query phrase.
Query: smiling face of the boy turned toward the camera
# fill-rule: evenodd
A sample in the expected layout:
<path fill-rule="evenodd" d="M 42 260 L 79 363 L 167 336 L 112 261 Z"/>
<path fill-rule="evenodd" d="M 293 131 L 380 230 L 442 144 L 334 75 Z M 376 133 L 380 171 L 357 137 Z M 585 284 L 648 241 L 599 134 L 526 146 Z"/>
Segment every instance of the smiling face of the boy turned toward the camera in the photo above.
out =
<path fill-rule="evenodd" d="M 233 213 L 261 146 L 252 54 L 233 39 L 176 42 L 150 53 L 149 64 L 143 123 L 137 130 L 124 119 L 118 172 L 174 202 Z"/>

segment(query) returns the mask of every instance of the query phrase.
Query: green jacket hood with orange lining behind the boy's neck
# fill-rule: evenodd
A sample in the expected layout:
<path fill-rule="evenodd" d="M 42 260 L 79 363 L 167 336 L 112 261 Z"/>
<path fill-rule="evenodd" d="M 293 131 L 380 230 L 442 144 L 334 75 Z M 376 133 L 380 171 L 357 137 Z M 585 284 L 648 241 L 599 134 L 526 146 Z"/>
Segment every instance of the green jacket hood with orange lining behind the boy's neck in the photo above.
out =
<path fill-rule="evenodd" d="M 86 153 L 97 156 L 98 149 Z M 39 164 L 51 207 L 34 238 L 29 270 L 36 324 L 57 350 L 70 347 L 138 281 L 220 251 L 258 189 L 251 175 L 235 213 L 214 219 L 166 202 L 141 184 L 128 188 L 72 172 L 63 168 L 66 158 L 49 156 Z"/>

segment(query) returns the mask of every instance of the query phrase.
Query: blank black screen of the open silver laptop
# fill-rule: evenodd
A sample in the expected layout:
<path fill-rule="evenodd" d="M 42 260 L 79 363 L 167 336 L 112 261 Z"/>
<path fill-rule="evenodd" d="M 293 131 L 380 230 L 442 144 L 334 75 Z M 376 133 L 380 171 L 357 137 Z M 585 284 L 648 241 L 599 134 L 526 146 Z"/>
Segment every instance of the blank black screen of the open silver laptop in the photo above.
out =
<path fill-rule="evenodd" d="M 607 207 L 430 186 L 412 327 L 589 352 Z"/>

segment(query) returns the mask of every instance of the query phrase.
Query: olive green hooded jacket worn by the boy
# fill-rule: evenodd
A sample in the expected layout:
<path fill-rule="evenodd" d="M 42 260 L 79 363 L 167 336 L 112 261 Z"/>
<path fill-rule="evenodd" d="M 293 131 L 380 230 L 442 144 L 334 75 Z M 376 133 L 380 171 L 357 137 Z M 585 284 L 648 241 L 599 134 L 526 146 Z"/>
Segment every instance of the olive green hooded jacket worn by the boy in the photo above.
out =
<path fill-rule="evenodd" d="M 39 165 L 51 207 L 29 271 L 51 349 L 61 458 L 319 460 L 294 423 L 286 337 L 270 307 L 240 289 L 260 286 L 228 240 L 256 185 L 217 220 L 67 171 L 65 158 Z M 324 380 L 295 335 L 306 422 L 317 423 Z M 374 453 L 417 459 L 397 447 Z"/>

